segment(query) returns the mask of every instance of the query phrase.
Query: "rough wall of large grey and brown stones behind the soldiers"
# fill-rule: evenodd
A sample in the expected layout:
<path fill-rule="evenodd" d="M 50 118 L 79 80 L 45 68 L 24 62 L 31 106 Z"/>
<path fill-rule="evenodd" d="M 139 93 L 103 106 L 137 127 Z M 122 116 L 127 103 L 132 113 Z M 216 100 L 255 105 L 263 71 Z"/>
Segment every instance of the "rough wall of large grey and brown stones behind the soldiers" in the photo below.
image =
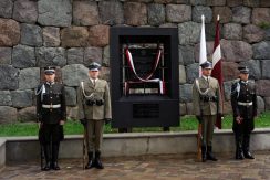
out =
<path fill-rule="evenodd" d="M 198 76 L 200 15 L 206 17 L 210 56 L 215 18 L 220 14 L 225 109 L 239 64 L 258 85 L 260 110 L 270 109 L 269 0 L 1 0 L 0 124 L 34 120 L 40 67 L 61 67 L 70 116 L 84 66 L 98 60 L 110 80 L 108 31 L 113 25 L 176 27 L 179 31 L 180 113 L 191 114 L 191 84 Z"/>

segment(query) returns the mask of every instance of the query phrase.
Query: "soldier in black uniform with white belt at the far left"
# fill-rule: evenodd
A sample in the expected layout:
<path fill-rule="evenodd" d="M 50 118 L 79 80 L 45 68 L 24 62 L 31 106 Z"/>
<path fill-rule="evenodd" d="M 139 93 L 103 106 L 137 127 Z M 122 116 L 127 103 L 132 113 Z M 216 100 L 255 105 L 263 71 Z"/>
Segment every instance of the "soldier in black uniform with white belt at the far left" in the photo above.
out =
<path fill-rule="evenodd" d="M 45 67 L 45 82 L 37 89 L 37 118 L 40 127 L 39 140 L 43 146 L 45 166 L 42 170 L 60 170 L 58 155 L 63 140 L 66 120 L 64 86 L 55 83 L 55 67 Z"/>

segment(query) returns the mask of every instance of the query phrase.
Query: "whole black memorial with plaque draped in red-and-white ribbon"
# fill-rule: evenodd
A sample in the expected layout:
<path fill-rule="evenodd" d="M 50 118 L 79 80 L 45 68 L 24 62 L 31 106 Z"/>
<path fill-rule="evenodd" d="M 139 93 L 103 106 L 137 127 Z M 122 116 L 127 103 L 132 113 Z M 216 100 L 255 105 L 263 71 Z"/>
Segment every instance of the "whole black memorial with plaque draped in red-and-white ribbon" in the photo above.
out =
<path fill-rule="evenodd" d="M 177 28 L 110 30 L 114 128 L 179 125 Z"/>

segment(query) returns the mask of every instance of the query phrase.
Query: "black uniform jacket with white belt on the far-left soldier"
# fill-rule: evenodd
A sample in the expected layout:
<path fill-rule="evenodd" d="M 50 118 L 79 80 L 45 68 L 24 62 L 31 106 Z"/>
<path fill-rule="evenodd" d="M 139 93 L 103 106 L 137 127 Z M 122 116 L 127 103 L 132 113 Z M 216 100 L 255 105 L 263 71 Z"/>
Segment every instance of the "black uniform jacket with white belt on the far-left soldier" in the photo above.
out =
<path fill-rule="evenodd" d="M 64 86 L 58 83 L 42 83 L 37 89 L 37 119 L 44 124 L 66 120 Z"/>

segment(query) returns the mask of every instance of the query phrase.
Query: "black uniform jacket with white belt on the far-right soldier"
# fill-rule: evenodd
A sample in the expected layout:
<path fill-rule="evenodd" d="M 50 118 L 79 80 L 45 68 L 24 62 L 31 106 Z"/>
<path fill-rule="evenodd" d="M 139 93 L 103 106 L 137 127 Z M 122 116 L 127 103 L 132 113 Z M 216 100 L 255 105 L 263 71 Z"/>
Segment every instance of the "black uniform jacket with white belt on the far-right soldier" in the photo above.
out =
<path fill-rule="evenodd" d="M 231 106 L 233 116 L 251 119 L 257 115 L 257 95 L 255 83 L 240 80 L 231 86 Z"/>

